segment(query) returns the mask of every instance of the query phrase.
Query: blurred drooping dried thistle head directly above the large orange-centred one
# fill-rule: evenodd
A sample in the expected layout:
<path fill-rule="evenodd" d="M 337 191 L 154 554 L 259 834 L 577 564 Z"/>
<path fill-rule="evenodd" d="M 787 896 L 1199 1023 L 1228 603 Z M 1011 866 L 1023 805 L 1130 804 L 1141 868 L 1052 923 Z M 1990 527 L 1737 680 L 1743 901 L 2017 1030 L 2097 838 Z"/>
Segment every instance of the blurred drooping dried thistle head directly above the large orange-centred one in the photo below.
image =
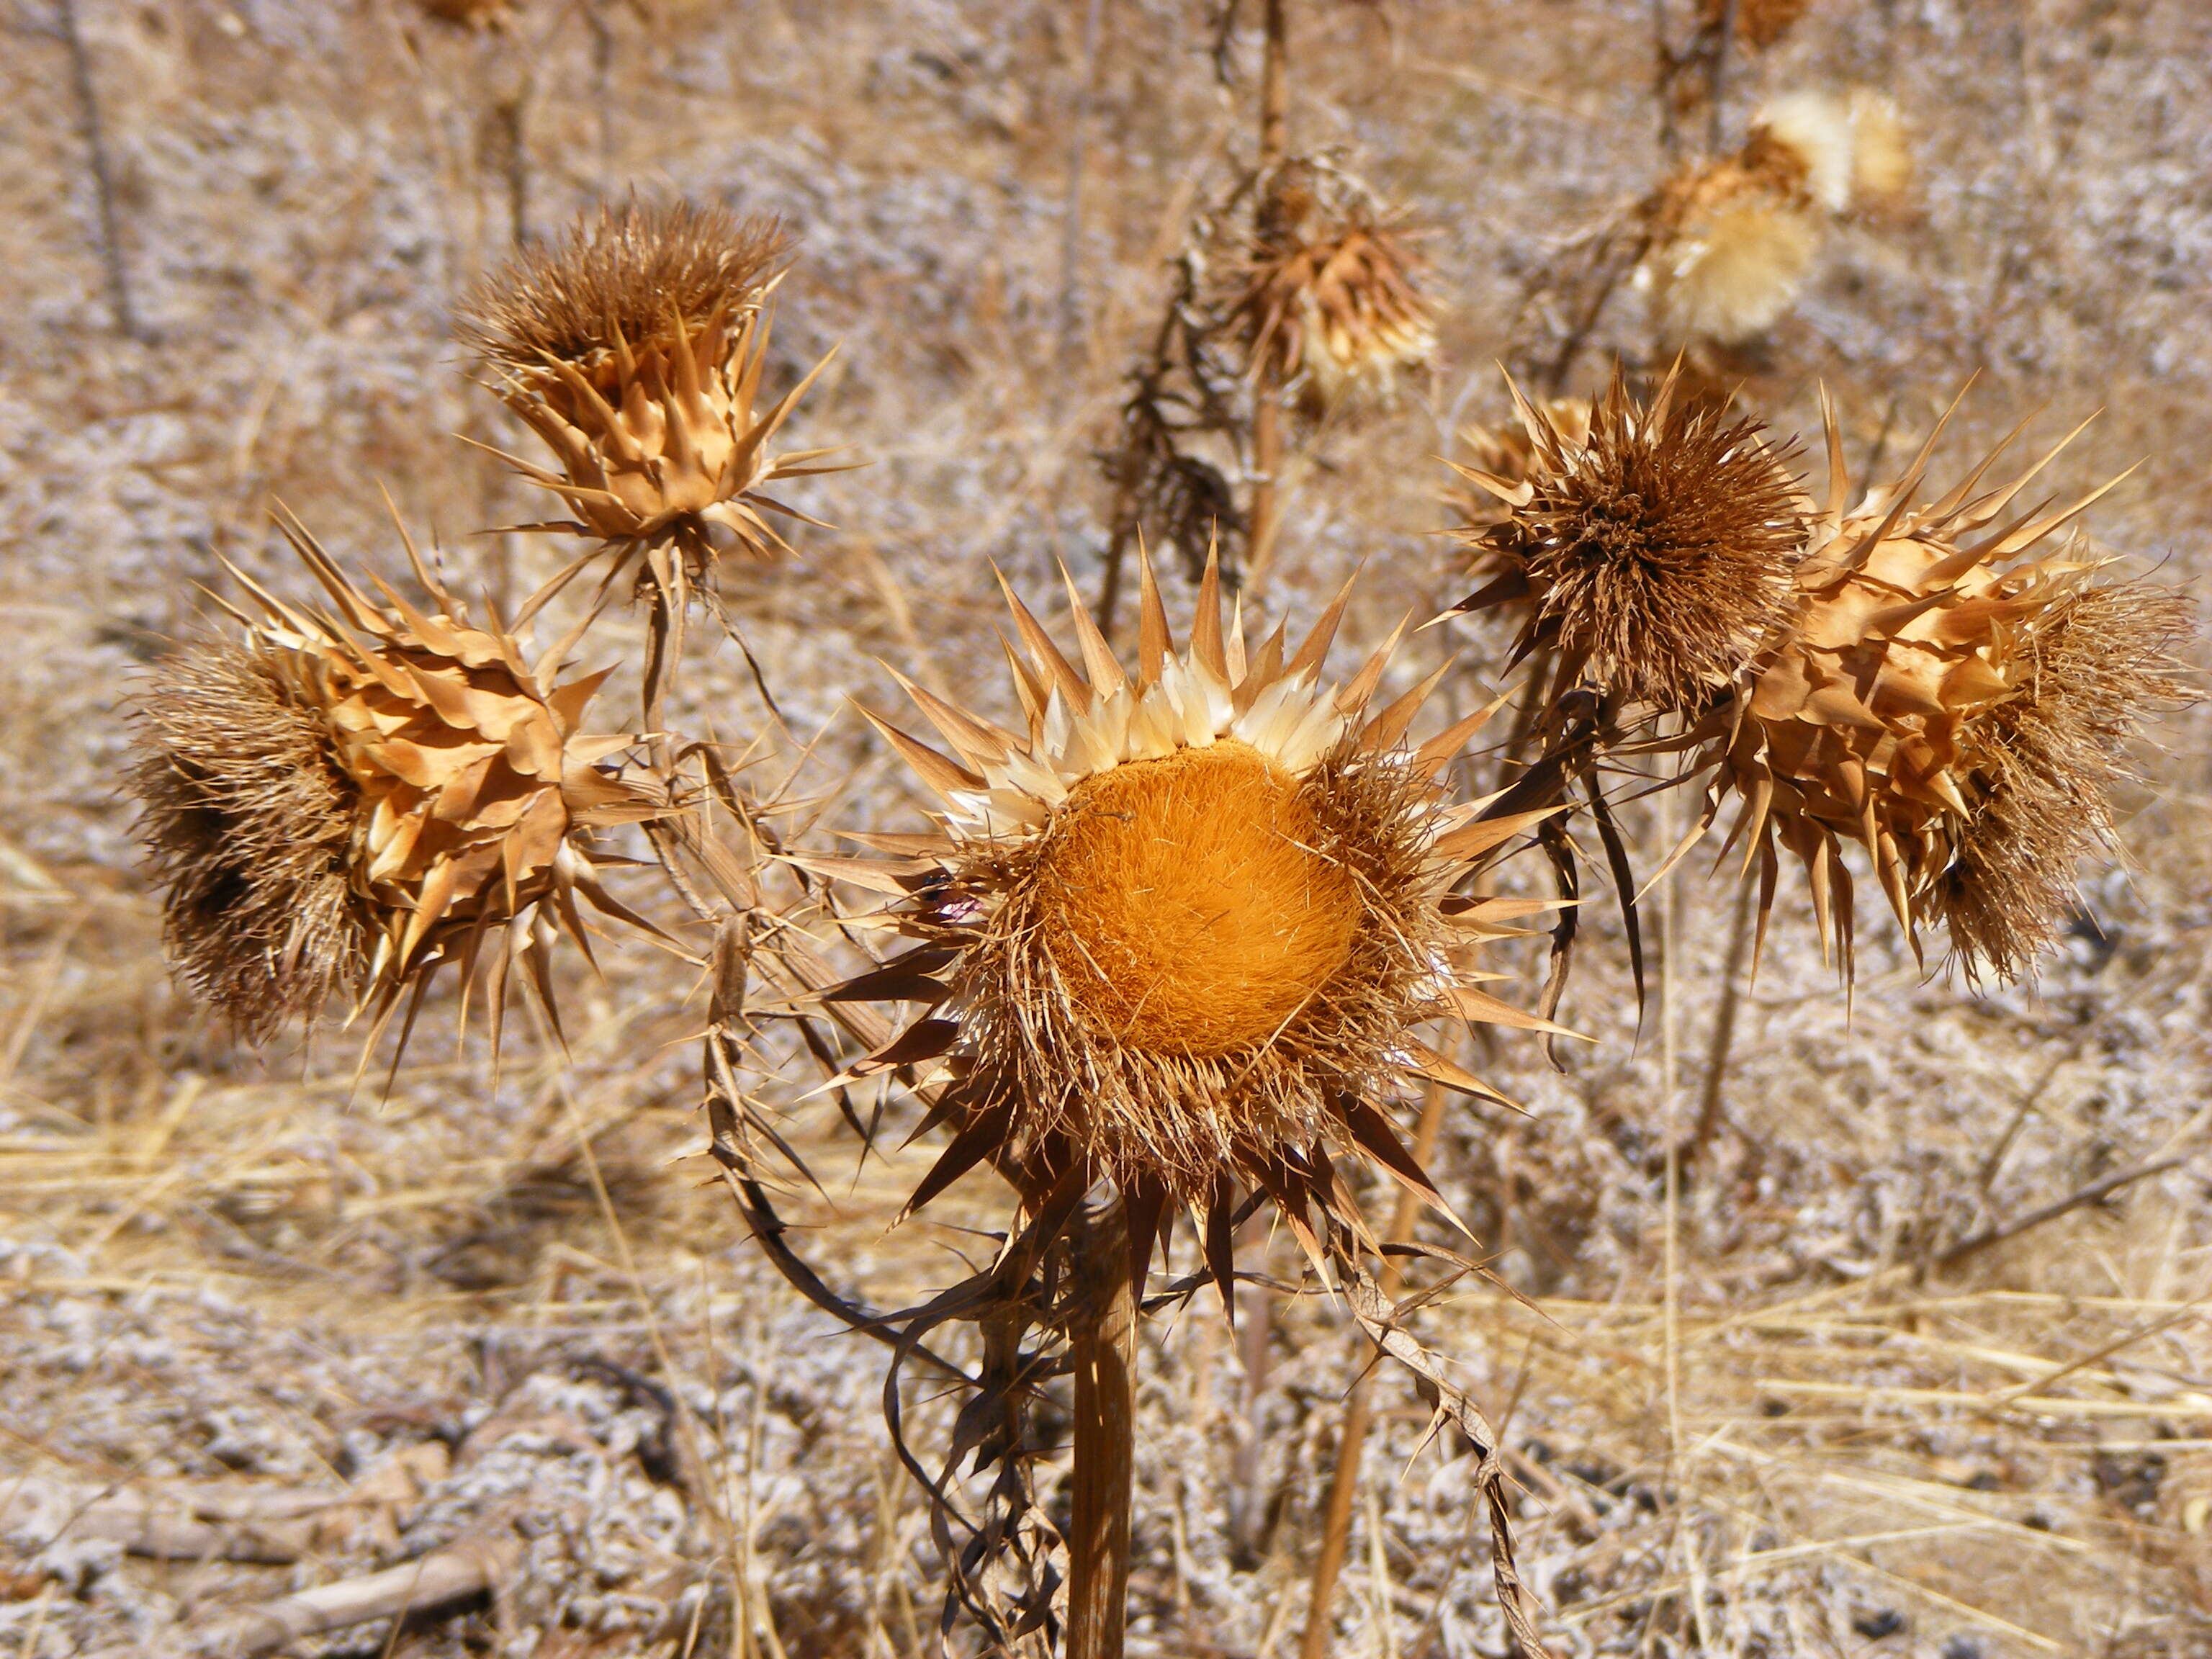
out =
<path fill-rule="evenodd" d="M 1254 369 L 1321 418 L 1383 403 L 1436 349 L 1436 307 L 1383 204 L 1349 175 L 1285 161 L 1256 188 L 1230 325 Z"/>

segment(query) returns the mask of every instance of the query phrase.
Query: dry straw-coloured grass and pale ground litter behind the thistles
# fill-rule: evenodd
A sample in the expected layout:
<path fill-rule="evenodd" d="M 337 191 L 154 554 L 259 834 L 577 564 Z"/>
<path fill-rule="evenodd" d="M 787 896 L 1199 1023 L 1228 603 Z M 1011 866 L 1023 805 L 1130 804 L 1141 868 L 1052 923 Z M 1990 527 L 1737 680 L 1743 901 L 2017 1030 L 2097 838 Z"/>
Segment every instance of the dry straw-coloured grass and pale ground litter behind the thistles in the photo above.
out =
<path fill-rule="evenodd" d="M 478 1046 L 449 1057 L 451 1002 L 425 1013 L 385 1099 L 349 1097 L 336 1033 L 257 1057 L 159 967 L 115 710 L 186 633 L 192 584 L 219 586 L 217 553 L 279 580 L 270 495 L 374 553 L 387 480 L 409 522 L 438 526 L 462 591 L 502 613 L 529 593 L 555 553 L 469 531 L 542 507 L 445 434 L 529 438 L 467 385 L 447 316 L 518 228 L 646 184 L 790 219 L 803 263 L 765 385 L 838 343 L 792 440 L 874 462 L 792 491 L 838 526 L 807 531 L 796 566 L 726 573 L 779 714 L 701 633 L 670 726 L 750 745 L 794 834 L 920 827 L 847 697 L 891 697 L 872 666 L 887 655 L 1011 717 L 989 560 L 1033 599 L 1055 557 L 1097 580 L 1091 451 L 1183 210 L 1245 144 L 1199 7 L 1108 0 L 1095 62 L 1082 11 L 522 4 L 504 31 L 460 33 L 389 0 L 82 0 L 146 341 L 104 310 L 66 53 L 24 11 L 0 66 L 0 1652 L 161 1652 L 228 1608 L 518 1513 L 535 1528 L 526 1595 L 296 1650 L 933 1650 L 933 1546 L 887 1453 L 878 1356 L 825 1334 L 706 1186 L 697 989 L 608 951 L 604 982 L 564 984 L 573 1064 L 518 1022 L 495 1084 Z M 1493 358 L 1548 389 L 1533 372 L 1584 314 L 1601 232 L 1655 184 L 1648 9 L 1312 0 L 1294 51 L 1294 126 L 1363 146 L 1376 184 L 1438 226 L 1433 378 L 1294 462 L 1265 595 L 1312 611 L 1356 560 L 1387 571 L 1345 622 L 1352 661 L 1464 591 L 1431 535 L 1444 476 L 1425 458 L 1495 420 Z M 1836 228 L 1794 314 L 1728 374 L 1781 434 L 1816 429 L 1825 380 L 1856 411 L 1854 476 L 1911 453 L 1973 367 L 1949 476 L 2015 411 L 2048 400 L 2064 429 L 2108 407 L 2051 489 L 2148 456 L 2090 529 L 2163 560 L 2170 586 L 2201 582 L 2205 64 L 2212 24 L 2188 0 L 1812 7 L 1736 62 L 1730 137 L 1759 93 L 1878 82 L 1920 146 L 1918 199 Z M 1644 341 L 1624 290 L 1557 389 L 1593 392 L 1604 354 Z M 1444 635 L 1385 690 L 1433 668 Z M 1462 641 L 1449 714 L 1486 701 L 1504 644 Z M 606 695 L 619 710 L 635 684 Z M 2199 717 L 2172 741 L 2157 796 L 2124 803 L 2132 872 L 2090 880 L 2095 925 L 2033 991 L 1927 982 L 1869 925 L 1847 1004 L 1809 922 L 1778 922 L 1674 1203 L 1668 1135 L 1688 1130 L 1728 960 L 1725 889 L 1701 860 L 1677 876 L 1672 1042 L 1657 1018 L 1637 1037 L 1599 894 L 1562 1013 L 1597 1044 L 1564 1073 L 1506 1044 L 1484 1057 L 1528 1117 L 1453 1110 L 1436 1168 L 1528 1301 L 1462 1281 L 1418 1321 L 1504 1427 L 1522 1562 L 1564 1652 L 2212 1648 L 2212 776 Z M 1650 863 L 1668 834 L 1637 812 Z M 1502 989 L 1526 998 L 1533 949 L 1520 967 Z M 796 1097 L 814 1073 L 790 1046 L 765 1026 L 761 1062 Z M 825 1186 L 790 1212 L 841 1285 L 902 1305 L 945 1283 L 951 1252 L 989 1250 L 962 1232 L 1002 1208 L 989 1177 L 887 1234 L 929 1148 L 858 1161 L 834 1099 L 785 1104 Z M 891 1102 L 885 1146 L 909 1121 Z M 1192 1254 L 1179 1241 L 1172 1267 Z M 1274 1263 L 1294 1272 L 1285 1241 Z M 1325 1298 L 1279 1303 L 1265 1352 L 1208 1298 L 1148 1329 L 1137 1652 L 1290 1648 L 1358 1363 Z M 911 1407 L 929 1431 L 936 1407 Z M 1498 1655 L 1469 1469 L 1413 1455 L 1425 1413 L 1398 1383 L 1378 1407 L 1338 1650 Z M 126 1557 L 13 1506 L 33 1478 L 361 1491 L 431 1442 L 447 1473 L 409 1464 L 427 1482 L 363 1500 L 380 1522 L 292 1564 Z"/>

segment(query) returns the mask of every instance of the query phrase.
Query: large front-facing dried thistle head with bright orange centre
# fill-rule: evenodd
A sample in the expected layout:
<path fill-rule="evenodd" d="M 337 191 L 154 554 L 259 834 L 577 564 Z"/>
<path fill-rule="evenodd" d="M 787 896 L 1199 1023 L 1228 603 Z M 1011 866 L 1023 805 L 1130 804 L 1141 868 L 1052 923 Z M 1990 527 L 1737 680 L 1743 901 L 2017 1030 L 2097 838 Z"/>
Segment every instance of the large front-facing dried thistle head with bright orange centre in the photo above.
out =
<path fill-rule="evenodd" d="M 889 920 L 918 947 L 838 995 L 929 1009 L 856 1068 L 938 1079 L 936 1117 L 958 1133 L 911 1206 L 984 1159 L 1031 1203 L 1106 1177 L 1144 1252 L 1170 1206 L 1201 1210 L 1228 1292 L 1239 1183 L 1301 1228 L 1336 1152 L 1427 1190 L 1376 1102 L 1405 1075 L 1486 1091 L 1418 1026 L 1548 1029 L 1467 969 L 1542 905 L 1455 891 L 1544 814 L 1484 821 L 1440 799 L 1489 710 L 1407 748 L 1438 679 L 1374 710 L 1391 646 L 1321 684 L 1345 597 L 1296 653 L 1281 628 L 1254 650 L 1241 615 L 1223 628 L 1208 566 L 1177 653 L 1144 566 L 1135 675 L 1073 599 L 1082 668 L 1009 591 L 1026 734 L 911 684 L 953 754 L 872 717 L 945 812 L 936 836 L 856 836 L 891 863 L 841 860 L 905 900 Z"/>

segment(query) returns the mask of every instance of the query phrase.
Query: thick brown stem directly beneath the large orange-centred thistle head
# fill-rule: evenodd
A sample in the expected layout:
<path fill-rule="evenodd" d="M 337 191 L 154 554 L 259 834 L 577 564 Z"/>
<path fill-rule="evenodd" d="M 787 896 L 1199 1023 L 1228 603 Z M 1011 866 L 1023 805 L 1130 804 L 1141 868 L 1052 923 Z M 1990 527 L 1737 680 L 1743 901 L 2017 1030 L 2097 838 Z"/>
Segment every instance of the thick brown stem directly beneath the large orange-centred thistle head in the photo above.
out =
<path fill-rule="evenodd" d="M 1128 1619 L 1130 1460 L 1137 1427 L 1137 1290 L 1121 1201 L 1073 1234 L 1075 1489 L 1068 1528 L 1068 1659 L 1121 1659 Z"/>

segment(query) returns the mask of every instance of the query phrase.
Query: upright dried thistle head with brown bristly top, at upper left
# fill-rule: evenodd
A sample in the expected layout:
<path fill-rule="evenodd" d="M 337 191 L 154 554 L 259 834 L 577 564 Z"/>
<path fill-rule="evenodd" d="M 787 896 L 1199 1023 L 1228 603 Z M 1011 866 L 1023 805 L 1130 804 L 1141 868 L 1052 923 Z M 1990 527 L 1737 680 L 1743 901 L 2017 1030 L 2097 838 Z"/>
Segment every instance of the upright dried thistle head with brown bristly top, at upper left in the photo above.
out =
<path fill-rule="evenodd" d="M 763 305 L 787 254 L 774 219 L 630 201 L 520 252 L 471 294 L 460 338 L 555 469 L 502 460 L 575 513 L 529 529 L 672 544 L 692 573 L 721 549 L 754 560 L 790 551 L 761 513 L 805 515 L 763 487 L 836 467 L 818 465 L 827 449 L 770 451 L 823 365 L 757 409 Z"/>

